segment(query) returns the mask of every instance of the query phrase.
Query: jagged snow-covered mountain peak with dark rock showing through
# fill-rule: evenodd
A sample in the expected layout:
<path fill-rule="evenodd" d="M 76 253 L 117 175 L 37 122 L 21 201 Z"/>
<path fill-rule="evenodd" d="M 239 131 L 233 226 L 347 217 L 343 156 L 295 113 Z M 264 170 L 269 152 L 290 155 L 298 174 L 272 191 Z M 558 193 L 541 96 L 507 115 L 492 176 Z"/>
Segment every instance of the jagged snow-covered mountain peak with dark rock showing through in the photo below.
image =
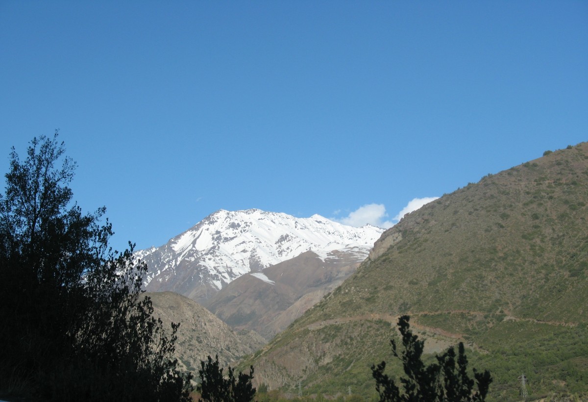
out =
<path fill-rule="evenodd" d="M 260 210 L 209 215 L 161 247 L 136 252 L 148 264 L 145 287 L 206 299 L 243 274 L 296 257 L 373 247 L 383 229 L 342 225 L 320 215 L 296 218 Z"/>

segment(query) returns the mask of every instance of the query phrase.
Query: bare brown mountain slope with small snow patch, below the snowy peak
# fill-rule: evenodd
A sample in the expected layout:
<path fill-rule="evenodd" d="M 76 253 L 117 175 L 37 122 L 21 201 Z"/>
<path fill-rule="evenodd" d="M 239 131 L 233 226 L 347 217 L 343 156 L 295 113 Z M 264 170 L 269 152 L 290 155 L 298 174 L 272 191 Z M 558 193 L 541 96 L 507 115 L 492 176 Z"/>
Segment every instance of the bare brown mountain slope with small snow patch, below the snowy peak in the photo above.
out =
<path fill-rule="evenodd" d="M 365 248 L 307 251 L 257 273 L 242 275 L 203 302 L 235 329 L 270 339 L 349 277 L 368 256 Z"/>

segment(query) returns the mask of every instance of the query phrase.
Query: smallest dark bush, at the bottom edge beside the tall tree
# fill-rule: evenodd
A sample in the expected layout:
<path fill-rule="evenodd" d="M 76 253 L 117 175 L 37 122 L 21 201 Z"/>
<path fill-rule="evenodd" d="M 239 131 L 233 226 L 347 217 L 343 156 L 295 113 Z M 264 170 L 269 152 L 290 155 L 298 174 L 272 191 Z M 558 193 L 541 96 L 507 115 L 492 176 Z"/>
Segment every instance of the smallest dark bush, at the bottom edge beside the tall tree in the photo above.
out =
<path fill-rule="evenodd" d="M 239 371 L 237 378 L 235 372 L 229 366 L 229 375 L 223 376 L 223 368 L 219 366 L 219 357 L 208 357 L 208 362 L 201 362 L 201 370 L 198 370 L 200 384 L 196 390 L 201 394 L 201 400 L 208 402 L 246 402 L 255 397 L 255 388 L 251 384 L 253 379 L 253 366 L 249 367 L 249 374 Z"/>

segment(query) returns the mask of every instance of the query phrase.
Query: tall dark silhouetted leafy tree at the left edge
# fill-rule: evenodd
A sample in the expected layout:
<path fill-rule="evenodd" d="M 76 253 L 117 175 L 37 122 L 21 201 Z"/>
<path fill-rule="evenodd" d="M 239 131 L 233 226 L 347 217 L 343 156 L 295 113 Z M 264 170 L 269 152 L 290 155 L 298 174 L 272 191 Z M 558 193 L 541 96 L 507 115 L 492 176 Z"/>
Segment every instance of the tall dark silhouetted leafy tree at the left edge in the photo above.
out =
<path fill-rule="evenodd" d="M 108 247 L 105 208 L 83 214 L 58 135 L 14 148 L 0 195 L 0 393 L 59 401 L 189 400 L 176 330 L 141 298 L 146 265 Z M 58 165 L 61 164 L 61 167 Z"/>

